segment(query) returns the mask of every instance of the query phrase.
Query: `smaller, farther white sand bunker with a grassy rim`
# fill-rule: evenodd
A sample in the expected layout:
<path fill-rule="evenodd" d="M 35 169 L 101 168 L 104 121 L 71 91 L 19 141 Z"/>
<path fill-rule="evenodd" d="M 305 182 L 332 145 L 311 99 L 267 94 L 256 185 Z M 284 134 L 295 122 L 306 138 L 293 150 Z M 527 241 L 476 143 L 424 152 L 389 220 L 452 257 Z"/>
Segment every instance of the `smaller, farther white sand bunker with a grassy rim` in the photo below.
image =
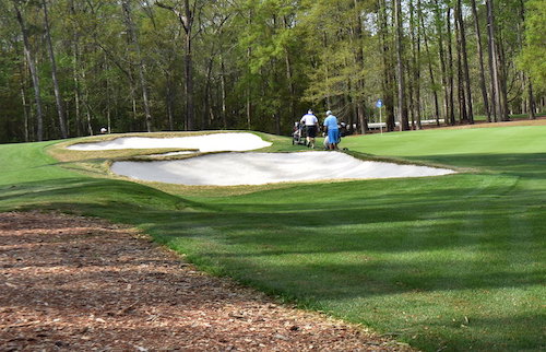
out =
<path fill-rule="evenodd" d="M 211 133 L 202 136 L 149 138 L 121 137 L 111 141 L 80 143 L 68 146 L 75 151 L 105 151 L 117 149 L 192 149 L 200 152 L 242 152 L 270 146 L 260 137 L 252 133 Z"/>

